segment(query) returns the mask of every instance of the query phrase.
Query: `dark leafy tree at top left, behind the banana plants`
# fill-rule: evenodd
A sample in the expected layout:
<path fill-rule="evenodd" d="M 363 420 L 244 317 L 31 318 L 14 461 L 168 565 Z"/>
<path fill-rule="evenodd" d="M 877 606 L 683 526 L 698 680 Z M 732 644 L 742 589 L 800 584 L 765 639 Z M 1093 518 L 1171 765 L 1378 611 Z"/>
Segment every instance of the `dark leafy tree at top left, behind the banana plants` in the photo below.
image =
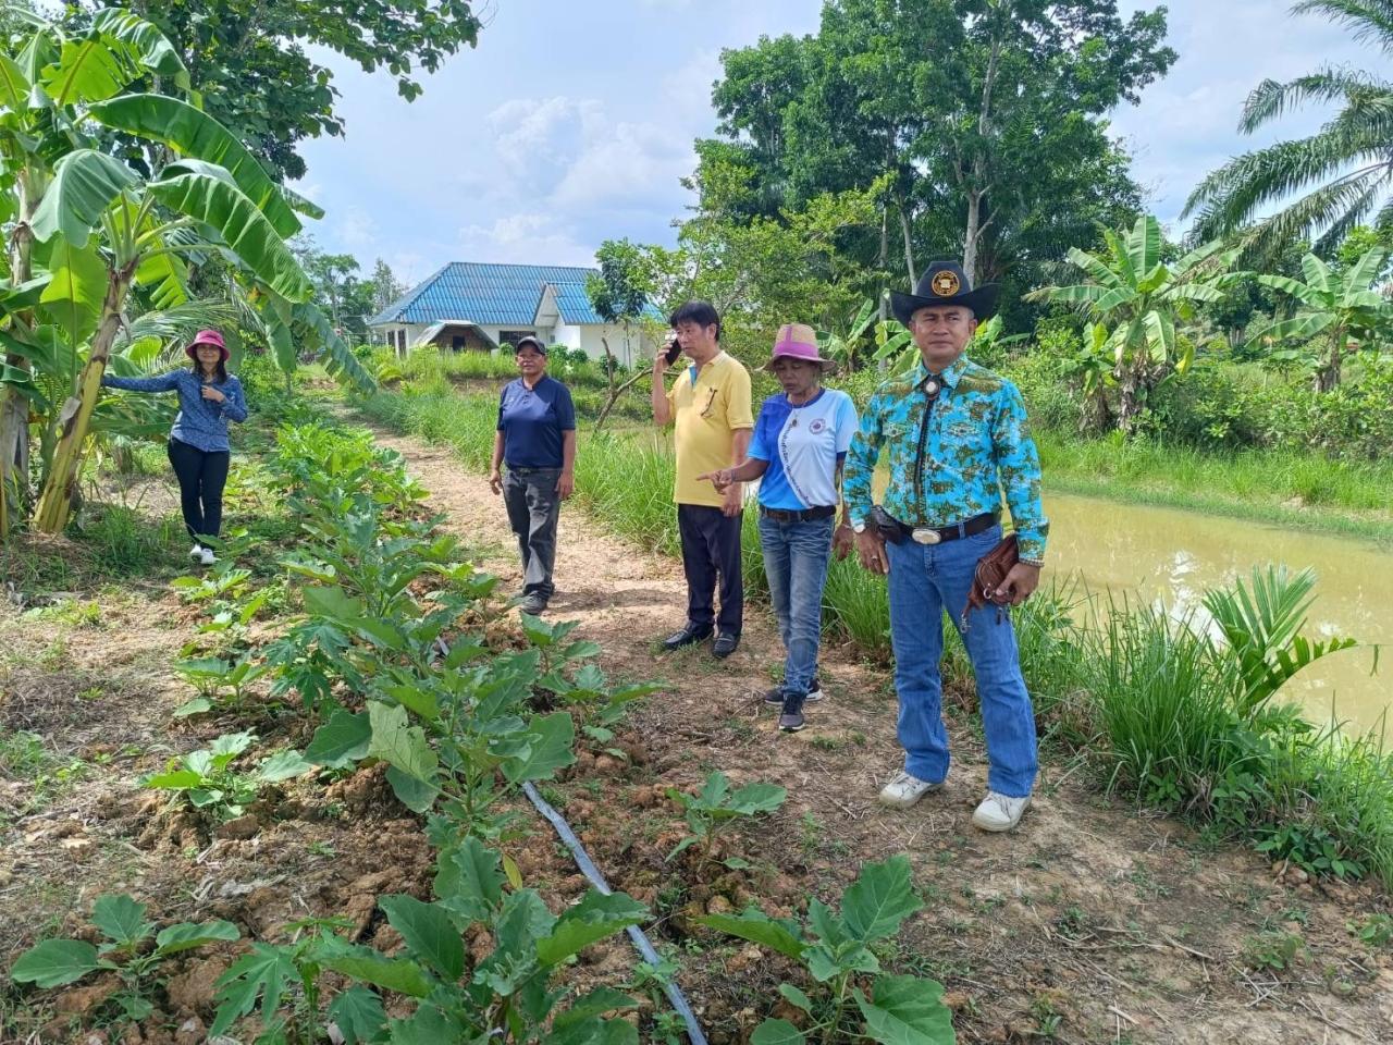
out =
<path fill-rule="evenodd" d="M 79 0 L 78 18 L 102 6 Z M 422 92 L 418 70 L 435 72 L 475 46 L 481 29 L 471 0 L 134 0 L 131 7 L 174 45 L 209 116 L 291 180 L 305 174 L 298 153 L 305 138 L 344 132 L 333 74 L 306 49 L 384 71 L 412 100 Z"/>

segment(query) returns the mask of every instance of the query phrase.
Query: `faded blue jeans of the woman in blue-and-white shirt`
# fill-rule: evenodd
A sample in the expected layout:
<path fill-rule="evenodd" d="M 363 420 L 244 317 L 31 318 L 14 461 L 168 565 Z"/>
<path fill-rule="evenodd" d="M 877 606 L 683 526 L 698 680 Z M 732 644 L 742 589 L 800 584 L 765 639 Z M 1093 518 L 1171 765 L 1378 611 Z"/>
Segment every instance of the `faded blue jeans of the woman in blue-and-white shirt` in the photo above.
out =
<path fill-rule="evenodd" d="M 765 553 L 769 598 L 783 640 L 784 697 L 807 697 L 818 673 L 822 631 L 822 588 L 832 557 L 832 516 L 807 522 L 759 517 L 759 546 Z"/>

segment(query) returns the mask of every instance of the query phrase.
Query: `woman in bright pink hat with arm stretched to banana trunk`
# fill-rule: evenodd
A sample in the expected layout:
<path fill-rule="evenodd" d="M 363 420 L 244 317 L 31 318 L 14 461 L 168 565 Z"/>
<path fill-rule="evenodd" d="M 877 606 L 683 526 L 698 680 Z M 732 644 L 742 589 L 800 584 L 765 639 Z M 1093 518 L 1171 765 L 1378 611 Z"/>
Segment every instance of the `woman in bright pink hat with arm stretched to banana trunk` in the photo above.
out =
<path fill-rule="evenodd" d="M 231 443 L 228 421 L 247 419 L 242 385 L 227 372 L 227 346 L 217 330 L 199 330 L 184 350 L 194 365 L 159 378 L 116 378 L 104 375 L 102 385 L 127 392 L 177 392 L 178 415 L 170 429 L 169 454 L 178 477 L 184 525 L 194 538 L 189 559 L 212 566 L 216 559 L 208 541 L 223 525 L 223 486 Z"/>

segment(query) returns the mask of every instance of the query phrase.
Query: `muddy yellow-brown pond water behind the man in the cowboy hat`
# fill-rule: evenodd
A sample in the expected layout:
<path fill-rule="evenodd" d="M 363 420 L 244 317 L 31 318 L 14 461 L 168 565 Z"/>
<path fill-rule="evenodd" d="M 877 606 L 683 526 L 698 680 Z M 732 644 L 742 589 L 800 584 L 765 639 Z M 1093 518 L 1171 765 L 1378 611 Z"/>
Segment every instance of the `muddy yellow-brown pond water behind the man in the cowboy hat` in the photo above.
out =
<path fill-rule="evenodd" d="M 1307 634 L 1350 635 L 1385 645 L 1379 673 L 1372 653 L 1334 653 L 1289 683 L 1286 695 L 1314 722 L 1334 715 L 1348 733 L 1382 727 L 1393 706 L 1393 555 L 1372 543 L 1318 536 L 1174 509 L 1049 496 L 1049 562 L 1092 592 L 1137 594 L 1173 612 L 1199 605 L 1206 588 L 1245 577 L 1254 566 L 1284 563 L 1316 571 Z M 1202 609 L 1201 609 L 1202 612 Z M 1393 715 L 1387 744 L 1393 747 Z"/>

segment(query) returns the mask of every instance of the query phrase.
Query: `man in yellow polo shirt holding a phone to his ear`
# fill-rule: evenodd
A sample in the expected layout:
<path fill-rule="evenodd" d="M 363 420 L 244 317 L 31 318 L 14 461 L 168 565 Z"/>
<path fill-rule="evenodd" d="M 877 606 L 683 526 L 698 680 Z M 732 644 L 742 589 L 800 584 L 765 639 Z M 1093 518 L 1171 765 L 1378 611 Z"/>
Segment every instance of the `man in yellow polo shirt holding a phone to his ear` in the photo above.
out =
<path fill-rule="evenodd" d="M 749 372 L 720 348 L 720 316 L 706 301 L 688 301 L 669 320 L 690 364 L 663 390 L 663 375 L 674 359 L 660 351 L 653 359 L 653 421 L 676 424 L 677 531 L 687 573 L 687 623 L 663 641 L 666 649 L 705 642 L 716 633 L 712 652 L 730 656 L 740 645 L 745 589 L 740 577 L 741 483 L 717 493 L 698 475 L 731 468 L 745 460 L 755 418 L 749 405 Z M 720 582 L 720 614 L 713 596 Z"/>

